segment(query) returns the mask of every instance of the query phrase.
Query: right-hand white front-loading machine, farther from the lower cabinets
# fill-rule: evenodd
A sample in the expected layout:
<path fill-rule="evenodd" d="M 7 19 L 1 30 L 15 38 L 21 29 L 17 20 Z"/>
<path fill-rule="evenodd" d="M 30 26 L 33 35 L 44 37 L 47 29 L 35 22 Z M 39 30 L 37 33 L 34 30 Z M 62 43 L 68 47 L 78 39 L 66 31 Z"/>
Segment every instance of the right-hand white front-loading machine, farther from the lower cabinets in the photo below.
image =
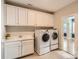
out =
<path fill-rule="evenodd" d="M 50 34 L 50 50 L 58 48 L 58 31 L 56 29 L 48 30 Z"/>

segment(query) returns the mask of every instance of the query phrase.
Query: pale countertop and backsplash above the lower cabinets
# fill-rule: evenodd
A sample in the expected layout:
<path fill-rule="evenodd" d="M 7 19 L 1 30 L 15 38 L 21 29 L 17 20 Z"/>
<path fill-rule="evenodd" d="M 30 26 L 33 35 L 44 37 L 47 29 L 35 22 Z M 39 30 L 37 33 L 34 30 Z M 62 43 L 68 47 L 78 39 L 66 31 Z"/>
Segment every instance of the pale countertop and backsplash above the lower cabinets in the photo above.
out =
<path fill-rule="evenodd" d="M 9 37 L 8 39 L 5 39 L 4 42 L 34 39 L 34 32 L 32 32 L 32 33 L 20 32 L 20 33 L 9 33 L 9 34 L 11 34 L 11 37 Z"/>

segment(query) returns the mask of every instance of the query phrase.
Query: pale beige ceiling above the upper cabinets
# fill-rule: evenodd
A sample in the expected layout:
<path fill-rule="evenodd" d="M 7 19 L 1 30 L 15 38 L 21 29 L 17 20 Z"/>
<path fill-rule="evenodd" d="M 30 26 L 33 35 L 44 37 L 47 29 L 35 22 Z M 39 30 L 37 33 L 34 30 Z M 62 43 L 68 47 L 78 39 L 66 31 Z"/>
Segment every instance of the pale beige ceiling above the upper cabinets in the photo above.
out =
<path fill-rule="evenodd" d="M 56 12 L 75 1 L 77 0 L 7 0 L 7 2 L 13 2 L 24 6 L 30 5 L 50 12 Z"/>

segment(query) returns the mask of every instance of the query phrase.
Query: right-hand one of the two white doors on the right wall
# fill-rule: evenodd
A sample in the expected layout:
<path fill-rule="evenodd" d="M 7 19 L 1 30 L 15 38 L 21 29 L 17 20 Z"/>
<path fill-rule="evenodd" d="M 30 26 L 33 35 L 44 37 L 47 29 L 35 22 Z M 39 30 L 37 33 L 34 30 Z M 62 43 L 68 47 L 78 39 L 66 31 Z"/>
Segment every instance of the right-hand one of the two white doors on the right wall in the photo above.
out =
<path fill-rule="evenodd" d="M 69 17 L 69 50 L 68 52 L 72 55 L 78 52 L 78 16 L 77 13 L 71 14 Z"/>

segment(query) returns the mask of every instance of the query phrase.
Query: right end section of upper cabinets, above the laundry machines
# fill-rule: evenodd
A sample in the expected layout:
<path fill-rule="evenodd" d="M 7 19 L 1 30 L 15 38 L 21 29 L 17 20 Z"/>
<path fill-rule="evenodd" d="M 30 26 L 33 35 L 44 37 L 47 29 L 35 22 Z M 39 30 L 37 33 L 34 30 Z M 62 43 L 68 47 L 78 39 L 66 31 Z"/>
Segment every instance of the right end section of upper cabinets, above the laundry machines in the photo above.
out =
<path fill-rule="evenodd" d="M 37 26 L 52 27 L 53 26 L 53 15 L 38 12 L 37 13 Z"/>

